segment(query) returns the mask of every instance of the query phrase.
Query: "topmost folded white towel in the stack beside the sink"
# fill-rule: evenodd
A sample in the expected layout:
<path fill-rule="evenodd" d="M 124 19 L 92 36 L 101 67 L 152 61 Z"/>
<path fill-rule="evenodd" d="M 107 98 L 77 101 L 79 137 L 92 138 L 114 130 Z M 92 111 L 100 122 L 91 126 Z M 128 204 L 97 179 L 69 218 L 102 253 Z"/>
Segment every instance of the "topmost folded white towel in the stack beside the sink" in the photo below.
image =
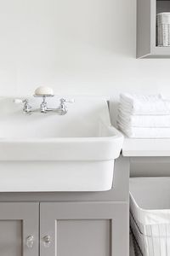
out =
<path fill-rule="evenodd" d="M 119 109 L 125 114 L 170 114 L 170 101 L 161 95 L 138 96 L 121 94 Z"/>

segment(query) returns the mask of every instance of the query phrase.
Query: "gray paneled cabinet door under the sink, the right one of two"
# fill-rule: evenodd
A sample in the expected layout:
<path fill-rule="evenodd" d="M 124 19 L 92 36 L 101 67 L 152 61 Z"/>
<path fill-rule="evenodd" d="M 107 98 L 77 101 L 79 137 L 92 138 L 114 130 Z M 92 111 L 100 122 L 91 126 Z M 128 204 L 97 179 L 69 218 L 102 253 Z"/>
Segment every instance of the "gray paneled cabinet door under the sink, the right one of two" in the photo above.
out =
<path fill-rule="evenodd" d="M 127 256 L 128 205 L 41 203 L 40 239 L 41 256 Z"/>

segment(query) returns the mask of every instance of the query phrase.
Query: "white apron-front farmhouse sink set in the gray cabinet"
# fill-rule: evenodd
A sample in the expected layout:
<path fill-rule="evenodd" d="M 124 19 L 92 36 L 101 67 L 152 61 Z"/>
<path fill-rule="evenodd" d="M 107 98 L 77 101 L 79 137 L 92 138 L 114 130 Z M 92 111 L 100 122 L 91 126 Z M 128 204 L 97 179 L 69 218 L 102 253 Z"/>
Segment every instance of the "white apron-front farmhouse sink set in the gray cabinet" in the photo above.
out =
<path fill-rule="evenodd" d="M 14 98 L 0 99 L 0 191 L 105 191 L 123 137 L 111 126 L 104 98 L 77 97 L 69 111 L 22 112 Z M 48 99 L 57 106 L 59 99 Z"/>

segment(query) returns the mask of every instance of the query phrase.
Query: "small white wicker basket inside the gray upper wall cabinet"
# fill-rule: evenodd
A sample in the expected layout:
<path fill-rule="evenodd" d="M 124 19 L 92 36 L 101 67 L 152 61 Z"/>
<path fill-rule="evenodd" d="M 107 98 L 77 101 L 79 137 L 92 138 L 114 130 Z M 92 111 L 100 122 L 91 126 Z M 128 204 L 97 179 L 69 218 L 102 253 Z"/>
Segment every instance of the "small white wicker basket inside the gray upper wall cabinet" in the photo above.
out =
<path fill-rule="evenodd" d="M 157 46 L 170 46 L 170 13 L 156 15 Z"/>

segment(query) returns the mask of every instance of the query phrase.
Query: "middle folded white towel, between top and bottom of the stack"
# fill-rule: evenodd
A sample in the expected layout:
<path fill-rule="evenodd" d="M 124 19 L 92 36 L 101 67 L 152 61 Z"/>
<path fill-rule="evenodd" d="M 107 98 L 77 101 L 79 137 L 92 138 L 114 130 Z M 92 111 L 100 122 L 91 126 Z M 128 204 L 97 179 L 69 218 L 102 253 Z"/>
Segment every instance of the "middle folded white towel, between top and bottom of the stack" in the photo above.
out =
<path fill-rule="evenodd" d="M 126 115 L 119 111 L 117 122 L 129 127 L 170 127 L 170 115 Z"/>

